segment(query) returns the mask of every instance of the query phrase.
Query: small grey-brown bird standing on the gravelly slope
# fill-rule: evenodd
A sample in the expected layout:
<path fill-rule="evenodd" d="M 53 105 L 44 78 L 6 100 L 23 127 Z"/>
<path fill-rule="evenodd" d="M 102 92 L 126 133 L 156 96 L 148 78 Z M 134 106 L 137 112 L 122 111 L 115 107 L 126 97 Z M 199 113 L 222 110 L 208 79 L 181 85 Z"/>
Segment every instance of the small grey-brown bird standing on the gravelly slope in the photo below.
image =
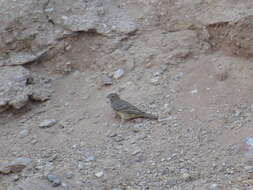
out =
<path fill-rule="evenodd" d="M 107 98 L 110 100 L 112 109 L 118 116 L 120 116 L 120 124 L 136 118 L 158 119 L 157 115 L 146 113 L 129 102 L 121 99 L 117 93 L 110 93 L 107 95 Z"/>

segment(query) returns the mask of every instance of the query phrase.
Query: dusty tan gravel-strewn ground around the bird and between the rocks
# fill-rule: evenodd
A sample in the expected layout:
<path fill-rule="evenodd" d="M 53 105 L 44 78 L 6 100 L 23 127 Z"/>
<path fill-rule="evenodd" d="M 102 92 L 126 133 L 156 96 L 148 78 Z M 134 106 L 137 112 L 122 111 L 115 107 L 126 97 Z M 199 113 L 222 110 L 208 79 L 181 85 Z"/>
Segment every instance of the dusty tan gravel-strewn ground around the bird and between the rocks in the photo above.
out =
<path fill-rule="evenodd" d="M 26 157 L 32 166 L 1 175 L 0 189 L 253 189 L 253 153 L 240 148 L 253 134 L 252 60 L 212 48 L 198 28 L 246 16 L 252 3 L 116 3 L 138 22 L 134 35 L 82 33 L 68 51 L 26 66 L 49 76 L 54 94 L 1 115 L 0 159 Z M 124 76 L 103 86 L 101 76 L 119 68 Z M 110 92 L 160 119 L 119 127 Z M 45 119 L 58 122 L 39 128 Z"/>

